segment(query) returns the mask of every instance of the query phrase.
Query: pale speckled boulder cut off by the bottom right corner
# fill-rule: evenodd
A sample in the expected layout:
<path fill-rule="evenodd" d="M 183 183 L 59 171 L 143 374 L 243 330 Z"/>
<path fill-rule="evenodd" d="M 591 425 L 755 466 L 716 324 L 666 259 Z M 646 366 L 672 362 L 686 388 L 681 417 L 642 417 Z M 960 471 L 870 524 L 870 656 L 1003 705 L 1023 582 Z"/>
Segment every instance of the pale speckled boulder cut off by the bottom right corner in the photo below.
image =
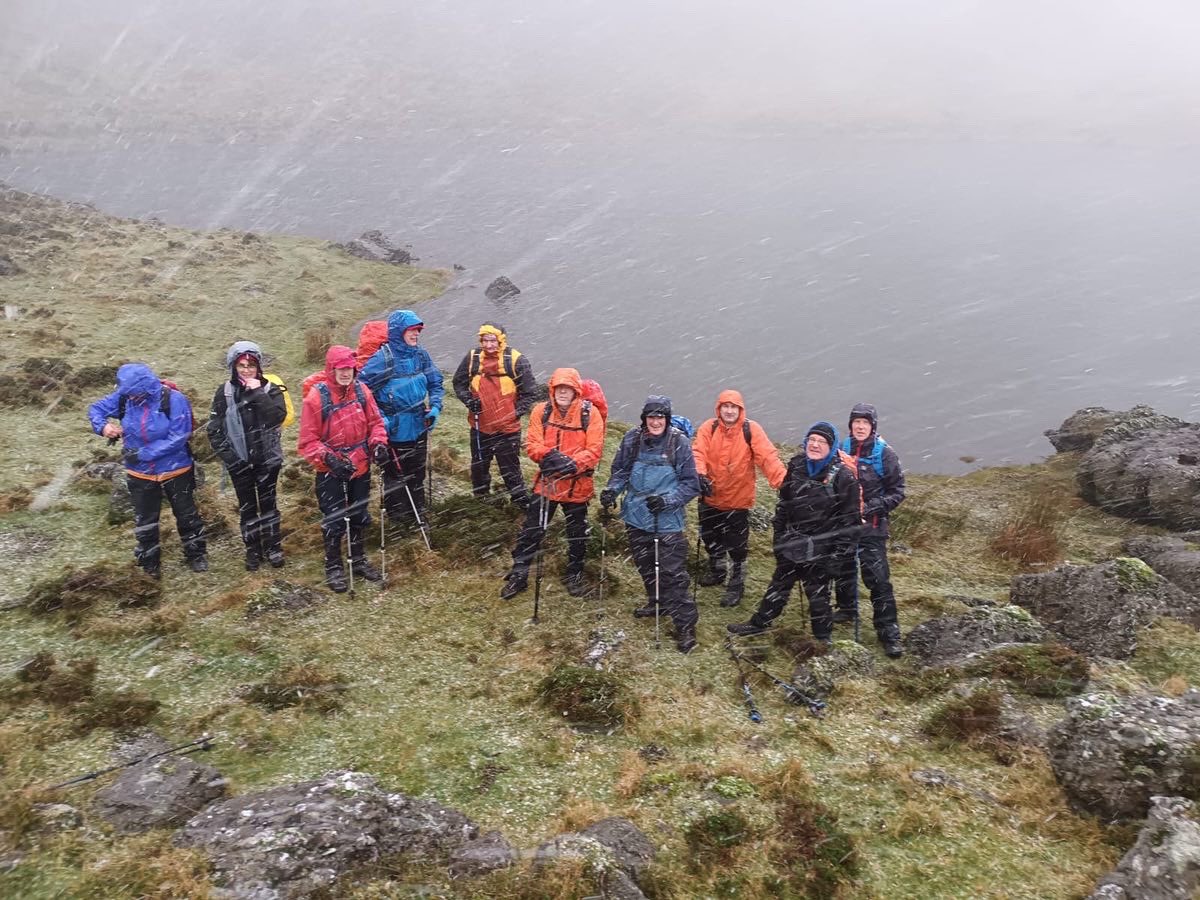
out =
<path fill-rule="evenodd" d="M 1200 893 L 1200 822 L 1182 797 L 1151 797 L 1150 815 L 1117 868 L 1087 900 L 1190 900 Z"/>

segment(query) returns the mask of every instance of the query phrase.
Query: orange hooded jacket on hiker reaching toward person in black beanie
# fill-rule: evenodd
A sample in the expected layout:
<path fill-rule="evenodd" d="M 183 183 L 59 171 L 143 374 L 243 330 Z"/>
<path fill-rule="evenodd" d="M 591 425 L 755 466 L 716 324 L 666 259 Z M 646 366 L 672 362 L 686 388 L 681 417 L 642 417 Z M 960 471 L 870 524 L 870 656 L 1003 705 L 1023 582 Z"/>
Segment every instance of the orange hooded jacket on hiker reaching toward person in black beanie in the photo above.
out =
<path fill-rule="evenodd" d="M 721 404 L 734 403 L 738 420 L 733 425 L 721 421 Z M 746 443 L 746 426 L 750 442 Z M 696 472 L 713 481 L 713 496 L 703 498 L 706 506 L 720 510 L 750 509 L 755 500 L 755 466 L 767 478 L 772 490 L 784 484 L 787 468 L 779 458 L 775 445 L 756 421 L 746 419 L 745 403 L 737 391 L 721 391 L 716 397 L 716 416 L 696 428 L 691 444 L 696 455 Z"/>

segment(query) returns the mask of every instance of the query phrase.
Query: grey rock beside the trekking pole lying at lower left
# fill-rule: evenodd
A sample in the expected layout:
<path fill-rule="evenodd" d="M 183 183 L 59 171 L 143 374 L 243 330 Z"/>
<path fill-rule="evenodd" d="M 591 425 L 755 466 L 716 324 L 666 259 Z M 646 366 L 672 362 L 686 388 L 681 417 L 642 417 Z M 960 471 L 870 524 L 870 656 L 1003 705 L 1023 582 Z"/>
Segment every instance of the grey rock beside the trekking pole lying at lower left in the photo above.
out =
<path fill-rule="evenodd" d="M 224 793 L 226 780 L 211 766 L 187 756 L 160 756 L 122 769 L 96 793 L 95 809 L 118 832 L 130 834 L 181 826 Z"/>

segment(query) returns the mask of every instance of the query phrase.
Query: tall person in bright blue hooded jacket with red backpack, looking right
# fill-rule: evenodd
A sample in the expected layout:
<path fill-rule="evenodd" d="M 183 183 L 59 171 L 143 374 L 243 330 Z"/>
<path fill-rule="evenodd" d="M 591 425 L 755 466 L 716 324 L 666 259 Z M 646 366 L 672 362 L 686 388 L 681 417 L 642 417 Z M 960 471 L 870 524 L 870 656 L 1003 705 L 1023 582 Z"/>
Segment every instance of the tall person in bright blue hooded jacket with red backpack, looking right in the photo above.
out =
<path fill-rule="evenodd" d="M 388 317 L 388 341 L 359 373 L 388 425 L 389 462 L 383 467 L 388 518 L 425 520 L 425 461 L 428 432 L 442 415 L 442 372 L 420 346 L 425 323 L 412 310 Z M 414 509 L 415 508 L 415 509 Z"/>

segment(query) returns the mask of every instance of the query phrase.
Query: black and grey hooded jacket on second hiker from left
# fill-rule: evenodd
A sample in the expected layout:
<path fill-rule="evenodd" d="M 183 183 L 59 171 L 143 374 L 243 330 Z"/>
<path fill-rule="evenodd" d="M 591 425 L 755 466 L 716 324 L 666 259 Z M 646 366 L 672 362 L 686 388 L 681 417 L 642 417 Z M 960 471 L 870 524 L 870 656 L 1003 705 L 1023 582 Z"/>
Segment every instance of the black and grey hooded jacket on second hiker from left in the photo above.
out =
<path fill-rule="evenodd" d="M 247 390 L 238 377 L 239 358 L 250 354 L 258 364 L 262 384 Z M 238 341 L 226 353 L 229 380 L 217 388 L 209 409 L 209 443 L 226 468 L 238 461 L 266 468 L 283 464 L 283 420 L 288 407 L 283 389 L 263 374 L 263 352 L 251 341 Z M 233 420 L 229 401 L 236 410 Z M 240 433 L 239 433 L 240 432 Z"/>

